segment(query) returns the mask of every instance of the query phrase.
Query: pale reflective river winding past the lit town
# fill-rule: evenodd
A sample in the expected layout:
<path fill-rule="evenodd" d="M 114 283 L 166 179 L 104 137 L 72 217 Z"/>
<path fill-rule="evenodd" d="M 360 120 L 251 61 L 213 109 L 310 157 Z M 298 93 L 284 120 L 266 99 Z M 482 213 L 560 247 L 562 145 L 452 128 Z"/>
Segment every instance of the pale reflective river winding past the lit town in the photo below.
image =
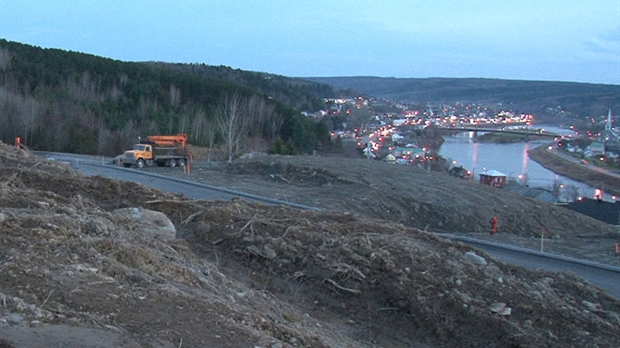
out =
<path fill-rule="evenodd" d="M 570 132 L 554 126 L 537 127 L 558 134 Z M 596 188 L 558 175 L 530 159 L 528 151 L 550 143 L 549 140 L 512 144 L 478 143 L 474 141 L 473 132 L 463 132 L 453 137 L 447 136 L 445 140 L 439 149 L 439 154 L 452 161 L 452 165 L 462 165 L 471 170 L 474 180 L 478 180 L 480 173 L 484 171 L 497 170 L 504 173 L 509 180 L 517 181 L 522 185 L 527 184 L 530 187 L 549 190 L 560 187 L 558 197 L 560 201 L 572 201 L 576 196 L 594 198 Z M 613 201 L 613 197 L 608 194 L 604 194 L 603 199 Z"/>

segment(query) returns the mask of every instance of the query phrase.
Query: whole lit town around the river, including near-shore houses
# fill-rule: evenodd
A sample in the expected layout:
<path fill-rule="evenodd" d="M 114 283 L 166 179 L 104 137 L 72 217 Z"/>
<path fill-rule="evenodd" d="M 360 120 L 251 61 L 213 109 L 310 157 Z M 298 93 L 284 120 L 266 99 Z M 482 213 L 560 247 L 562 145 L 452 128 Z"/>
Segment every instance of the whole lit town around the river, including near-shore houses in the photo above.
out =
<path fill-rule="evenodd" d="M 614 212 L 611 214 L 614 217 L 611 223 L 618 223 L 616 215 L 619 206 L 614 204 L 617 196 L 604 197 L 600 188 L 583 197 L 576 187 L 561 182 L 551 183 L 550 187 L 530 187 L 527 173 L 512 176 L 484 168 L 485 170 L 474 174 L 475 169 L 464 168 L 457 161 L 439 155 L 443 137 L 466 131 L 476 136 L 478 133 L 483 134 L 476 137 L 477 142 L 528 142 L 548 139 L 549 144 L 553 144 L 548 150 L 553 150 L 556 156 L 579 163 L 584 168 L 596 168 L 620 177 L 620 129 L 613 127 L 619 124 L 620 119 L 614 117 L 611 110 L 607 115 L 589 118 L 581 124 L 575 122 L 576 125 L 562 124 L 555 127 L 553 122 L 537 120 L 531 113 L 517 112 L 504 105 L 408 105 L 364 97 L 326 99 L 325 103 L 328 106 L 325 110 L 307 116 L 332 120 L 332 140 L 337 142 L 342 141 L 340 139 L 354 138 L 361 156 L 395 164 L 417 165 L 457 178 L 476 180 L 483 185 L 503 188 L 530 198 L 555 204 L 569 204 L 571 209 L 603 221 L 609 219 L 600 218 L 598 215 L 601 215 L 601 212 L 607 212 L 606 216 L 610 215 L 608 210 L 611 209 L 610 211 Z M 563 113 L 560 107 L 550 110 L 555 111 L 560 115 Z M 570 120 L 569 117 L 565 119 Z M 563 131 L 556 134 L 546 130 L 544 125 L 561 128 Z M 507 154 L 506 159 L 513 158 L 511 156 L 514 155 Z M 607 202 L 589 205 L 590 201 L 602 199 Z"/>

